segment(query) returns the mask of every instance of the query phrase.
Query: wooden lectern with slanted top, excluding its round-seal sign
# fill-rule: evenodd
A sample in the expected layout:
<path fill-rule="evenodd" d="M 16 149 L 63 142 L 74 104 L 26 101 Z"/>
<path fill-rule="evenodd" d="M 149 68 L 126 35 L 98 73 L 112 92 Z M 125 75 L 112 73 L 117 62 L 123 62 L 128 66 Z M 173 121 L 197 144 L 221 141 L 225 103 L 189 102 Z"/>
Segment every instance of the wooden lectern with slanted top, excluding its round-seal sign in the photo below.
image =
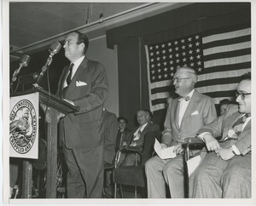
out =
<path fill-rule="evenodd" d="M 45 121 L 47 127 L 47 163 L 46 163 L 46 198 L 56 197 L 56 180 L 57 180 L 57 140 L 58 140 L 58 114 L 67 114 L 77 112 L 79 107 L 73 106 L 67 101 L 59 99 L 54 94 L 42 89 L 38 85 L 34 85 L 33 89 L 12 94 L 19 96 L 24 94 L 39 93 L 39 102 L 48 106 L 48 114 L 45 113 Z M 32 197 L 32 165 L 29 161 L 23 161 L 22 176 L 22 198 Z"/>

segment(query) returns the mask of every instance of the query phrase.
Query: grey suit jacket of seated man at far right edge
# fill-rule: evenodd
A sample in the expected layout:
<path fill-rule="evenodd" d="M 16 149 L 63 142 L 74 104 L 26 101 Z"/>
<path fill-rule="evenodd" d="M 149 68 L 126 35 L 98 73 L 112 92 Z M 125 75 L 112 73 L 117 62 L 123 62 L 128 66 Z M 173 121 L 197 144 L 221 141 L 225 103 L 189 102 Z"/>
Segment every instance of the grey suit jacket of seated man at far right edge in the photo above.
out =
<path fill-rule="evenodd" d="M 216 118 L 212 123 L 204 126 L 199 130 L 199 133 L 209 132 L 215 138 L 221 136 L 221 140 L 219 140 L 221 147 L 229 148 L 235 145 L 242 155 L 246 155 L 248 152 L 251 152 L 251 120 L 241 131 L 238 140 L 225 140 L 232 125 L 242 115 L 238 112 L 238 106 L 230 105 L 225 115 Z"/>

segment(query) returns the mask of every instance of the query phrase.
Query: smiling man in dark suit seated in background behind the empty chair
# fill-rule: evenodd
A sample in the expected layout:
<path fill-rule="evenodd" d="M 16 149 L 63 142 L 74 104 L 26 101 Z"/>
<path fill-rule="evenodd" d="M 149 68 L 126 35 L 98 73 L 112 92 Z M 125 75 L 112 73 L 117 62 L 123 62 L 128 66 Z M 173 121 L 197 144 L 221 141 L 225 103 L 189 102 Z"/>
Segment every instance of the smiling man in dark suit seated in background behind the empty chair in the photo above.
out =
<path fill-rule="evenodd" d="M 127 139 L 124 141 L 124 146 L 137 146 L 143 148 L 144 135 L 148 131 L 160 130 L 158 124 L 151 122 L 151 115 L 147 110 L 140 110 L 137 112 L 137 122 L 139 123 L 139 126 L 131 130 L 131 133 L 128 134 Z M 136 155 L 134 153 L 127 153 L 122 166 L 135 165 L 135 163 Z"/>

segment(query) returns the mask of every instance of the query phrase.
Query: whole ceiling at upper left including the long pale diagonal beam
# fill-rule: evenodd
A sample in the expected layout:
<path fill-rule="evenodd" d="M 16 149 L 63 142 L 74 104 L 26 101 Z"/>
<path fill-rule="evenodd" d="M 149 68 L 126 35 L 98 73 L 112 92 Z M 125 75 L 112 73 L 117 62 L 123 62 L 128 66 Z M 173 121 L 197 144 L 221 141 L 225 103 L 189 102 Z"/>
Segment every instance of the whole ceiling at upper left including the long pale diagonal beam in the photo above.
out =
<path fill-rule="evenodd" d="M 107 29 L 176 9 L 183 4 L 188 3 L 10 1 L 10 54 L 19 58 L 22 53 L 49 46 L 54 40 L 63 40 L 72 30 L 85 30 L 89 39 L 99 37 L 105 35 Z"/>

